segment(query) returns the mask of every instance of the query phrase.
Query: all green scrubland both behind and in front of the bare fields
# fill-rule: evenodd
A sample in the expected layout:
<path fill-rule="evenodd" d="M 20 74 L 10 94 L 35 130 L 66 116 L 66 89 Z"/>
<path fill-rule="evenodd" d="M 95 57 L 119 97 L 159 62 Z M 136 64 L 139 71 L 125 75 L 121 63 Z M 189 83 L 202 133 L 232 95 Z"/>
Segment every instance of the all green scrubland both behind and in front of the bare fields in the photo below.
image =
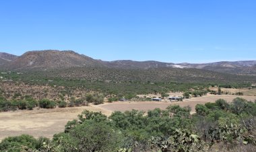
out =
<path fill-rule="evenodd" d="M 82 73 L 86 75 L 80 77 Z M 153 93 L 164 98 L 170 91 L 196 98 L 207 93 L 226 94 L 222 87 L 251 87 L 255 81 L 255 77 L 196 69 L 183 73 L 179 69 L 143 69 L 137 73 L 137 69 L 75 68 L 9 74 L 3 79 L 13 81 L 1 83 L 0 111 L 87 106 L 102 104 L 104 98 L 108 102 L 120 98 L 143 101 L 137 95 Z M 217 91 L 209 89 L 216 86 Z M 255 102 L 217 100 L 197 105 L 195 110 L 191 115 L 189 107 L 169 106 L 147 113 L 113 112 L 108 117 L 85 111 L 53 139 L 8 137 L 1 141 L 0 151 L 255 151 Z"/>

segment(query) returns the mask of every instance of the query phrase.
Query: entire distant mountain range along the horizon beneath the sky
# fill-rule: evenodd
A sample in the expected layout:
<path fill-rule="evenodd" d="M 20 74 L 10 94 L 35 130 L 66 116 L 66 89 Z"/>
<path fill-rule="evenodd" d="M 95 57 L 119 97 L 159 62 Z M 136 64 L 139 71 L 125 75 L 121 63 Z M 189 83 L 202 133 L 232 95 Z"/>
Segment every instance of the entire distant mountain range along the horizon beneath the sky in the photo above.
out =
<path fill-rule="evenodd" d="M 0 52 L 0 68 L 9 70 L 48 70 L 70 67 L 108 67 L 117 69 L 204 69 L 220 73 L 255 75 L 256 61 L 222 61 L 217 63 L 162 63 L 158 61 L 100 61 L 71 50 L 28 51 L 22 56 Z"/>

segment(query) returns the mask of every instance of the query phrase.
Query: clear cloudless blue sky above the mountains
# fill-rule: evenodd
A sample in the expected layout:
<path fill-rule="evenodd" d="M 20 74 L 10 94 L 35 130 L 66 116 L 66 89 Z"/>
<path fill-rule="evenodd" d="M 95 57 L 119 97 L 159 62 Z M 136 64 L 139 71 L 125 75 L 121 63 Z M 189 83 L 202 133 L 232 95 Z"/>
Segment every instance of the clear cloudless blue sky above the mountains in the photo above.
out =
<path fill-rule="evenodd" d="M 105 61 L 256 60 L 256 1 L 0 1 L 0 52 L 46 49 Z"/>

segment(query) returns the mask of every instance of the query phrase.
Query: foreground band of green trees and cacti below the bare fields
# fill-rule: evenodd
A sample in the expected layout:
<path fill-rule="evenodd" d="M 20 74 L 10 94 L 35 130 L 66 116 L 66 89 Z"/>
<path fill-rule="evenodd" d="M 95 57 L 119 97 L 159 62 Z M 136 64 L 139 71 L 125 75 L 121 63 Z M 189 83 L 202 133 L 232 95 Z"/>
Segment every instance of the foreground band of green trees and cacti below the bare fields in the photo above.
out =
<path fill-rule="evenodd" d="M 84 111 L 53 137 L 8 137 L 0 151 L 255 151 L 256 103 L 236 98 L 190 108 Z"/>

